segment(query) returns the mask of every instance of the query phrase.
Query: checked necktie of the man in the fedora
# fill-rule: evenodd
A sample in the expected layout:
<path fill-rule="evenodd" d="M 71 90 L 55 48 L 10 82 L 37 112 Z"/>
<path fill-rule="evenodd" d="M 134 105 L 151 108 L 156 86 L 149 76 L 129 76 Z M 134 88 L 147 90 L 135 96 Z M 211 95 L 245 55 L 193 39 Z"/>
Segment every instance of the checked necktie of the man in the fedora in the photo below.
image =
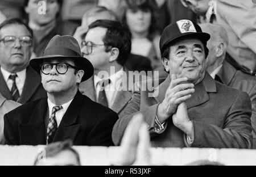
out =
<path fill-rule="evenodd" d="M 58 128 L 55 113 L 62 108 L 63 108 L 62 106 L 55 106 L 52 108 L 52 113 L 51 113 L 51 117 L 49 119 L 49 124 L 47 128 L 47 139 L 46 139 L 47 144 L 50 144 L 52 142 L 53 137 L 55 136 L 55 133 Z"/>

